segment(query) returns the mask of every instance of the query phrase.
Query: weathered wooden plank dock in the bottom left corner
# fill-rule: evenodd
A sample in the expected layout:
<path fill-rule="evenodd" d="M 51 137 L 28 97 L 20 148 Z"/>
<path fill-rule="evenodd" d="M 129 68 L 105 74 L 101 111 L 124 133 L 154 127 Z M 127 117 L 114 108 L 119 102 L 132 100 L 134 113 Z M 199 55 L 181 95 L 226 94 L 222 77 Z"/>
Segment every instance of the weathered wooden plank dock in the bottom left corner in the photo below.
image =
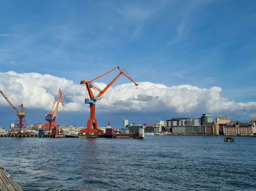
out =
<path fill-rule="evenodd" d="M 0 191 L 23 191 L 0 164 Z"/>

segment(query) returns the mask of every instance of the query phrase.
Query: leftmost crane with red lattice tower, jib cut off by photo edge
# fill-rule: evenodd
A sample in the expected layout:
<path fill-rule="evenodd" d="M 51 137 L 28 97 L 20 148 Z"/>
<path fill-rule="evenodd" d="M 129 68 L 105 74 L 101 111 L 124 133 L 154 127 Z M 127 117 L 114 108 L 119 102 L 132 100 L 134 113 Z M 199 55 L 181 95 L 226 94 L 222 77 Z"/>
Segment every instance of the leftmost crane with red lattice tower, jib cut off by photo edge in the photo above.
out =
<path fill-rule="evenodd" d="M 24 112 L 24 110 L 23 110 L 23 104 L 12 100 L 12 101 L 20 104 L 19 105 L 20 109 L 18 111 L 14 107 L 14 105 L 10 102 L 10 100 L 7 98 L 7 96 L 2 91 L 0 91 L 0 93 L 5 98 L 5 100 L 9 103 L 9 105 L 12 107 L 12 109 L 15 111 L 15 113 L 18 115 L 18 118 L 16 119 L 16 121 L 14 123 L 14 127 L 12 127 L 9 134 L 28 134 L 27 120 L 25 119 L 25 116 L 27 116 L 27 113 Z"/>

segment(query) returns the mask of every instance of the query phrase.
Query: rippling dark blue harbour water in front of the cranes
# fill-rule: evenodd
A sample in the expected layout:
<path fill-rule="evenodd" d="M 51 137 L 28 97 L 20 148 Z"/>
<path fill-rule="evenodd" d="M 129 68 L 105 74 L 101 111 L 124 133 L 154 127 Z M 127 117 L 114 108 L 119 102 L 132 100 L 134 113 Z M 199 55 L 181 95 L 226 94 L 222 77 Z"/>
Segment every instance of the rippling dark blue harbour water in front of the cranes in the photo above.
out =
<path fill-rule="evenodd" d="M 24 191 L 256 190 L 256 138 L 0 138 Z"/>

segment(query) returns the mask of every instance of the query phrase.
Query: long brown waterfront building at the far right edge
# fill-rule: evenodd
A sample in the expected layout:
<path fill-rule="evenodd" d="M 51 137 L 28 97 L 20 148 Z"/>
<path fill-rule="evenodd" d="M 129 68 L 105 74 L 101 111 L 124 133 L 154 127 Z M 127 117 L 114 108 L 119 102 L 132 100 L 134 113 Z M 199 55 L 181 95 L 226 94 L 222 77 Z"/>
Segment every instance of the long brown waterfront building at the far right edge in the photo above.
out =
<path fill-rule="evenodd" d="M 251 135 L 253 135 L 253 133 L 255 133 L 255 126 L 253 125 L 253 123 L 239 124 L 238 121 L 235 124 L 227 123 L 223 127 L 223 133 L 224 133 L 224 135 L 251 136 Z"/>

